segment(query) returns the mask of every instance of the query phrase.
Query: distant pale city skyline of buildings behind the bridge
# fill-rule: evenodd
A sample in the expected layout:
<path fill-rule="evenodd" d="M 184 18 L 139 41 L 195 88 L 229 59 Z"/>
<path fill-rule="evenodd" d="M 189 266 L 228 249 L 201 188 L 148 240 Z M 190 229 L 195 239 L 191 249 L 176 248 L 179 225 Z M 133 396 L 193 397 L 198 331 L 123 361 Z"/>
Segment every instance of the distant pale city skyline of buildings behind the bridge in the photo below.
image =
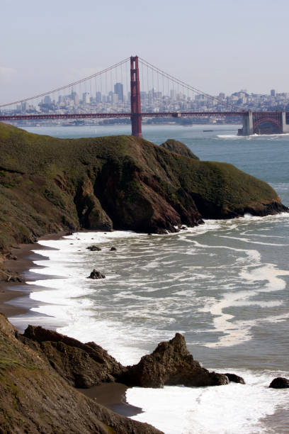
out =
<path fill-rule="evenodd" d="M 11 107 L 0 109 L 0 113 L 130 113 L 130 91 L 125 93 L 123 84 L 116 82 L 108 91 L 85 91 L 82 94 L 73 90 L 69 93 L 46 95 L 35 101 L 23 101 Z M 53 96 L 54 95 L 54 96 Z M 271 89 L 269 94 L 248 94 L 246 89 L 226 95 L 223 92 L 210 99 L 205 95 L 188 96 L 176 89 L 166 89 L 164 93 L 156 88 L 140 91 L 142 111 L 226 111 L 227 106 L 251 111 L 274 111 L 289 109 L 289 93 L 278 93 Z"/>

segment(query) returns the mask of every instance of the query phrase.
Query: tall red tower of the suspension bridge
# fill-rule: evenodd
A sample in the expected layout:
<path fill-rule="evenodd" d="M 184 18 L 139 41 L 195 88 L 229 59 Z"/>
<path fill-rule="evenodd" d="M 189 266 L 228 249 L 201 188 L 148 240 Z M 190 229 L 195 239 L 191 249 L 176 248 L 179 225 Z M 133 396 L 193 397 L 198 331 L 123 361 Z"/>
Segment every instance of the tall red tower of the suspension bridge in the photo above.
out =
<path fill-rule="evenodd" d="M 132 135 L 142 137 L 142 110 L 140 106 L 140 74 L 138 57 L 130 57 L 130 121 L 132 123 Z"/>

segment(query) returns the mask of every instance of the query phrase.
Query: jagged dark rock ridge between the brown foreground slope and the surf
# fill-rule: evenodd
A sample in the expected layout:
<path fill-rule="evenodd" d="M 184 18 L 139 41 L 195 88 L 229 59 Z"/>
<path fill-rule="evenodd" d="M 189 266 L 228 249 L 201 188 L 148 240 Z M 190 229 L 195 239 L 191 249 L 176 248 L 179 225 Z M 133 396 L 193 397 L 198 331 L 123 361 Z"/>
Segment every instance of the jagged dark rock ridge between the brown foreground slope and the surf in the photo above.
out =
<path fill-rule="evenodd" d="M 77 387 L 90 387 L 103 382 L 123 382 L 128 386 L 162 387 L 183 384 L 185 386 L 219 386 L 228 384 L 225 374 L 209 372 L 193 360 L 183 336 L 159 343 L 151 355 L 145 355 L 134 366 L 124 367 L 95 343 L 80 343 L 52 330 L 29 325 L 23 343 L 35 349 L 38 345 L 50 365 Z"/>

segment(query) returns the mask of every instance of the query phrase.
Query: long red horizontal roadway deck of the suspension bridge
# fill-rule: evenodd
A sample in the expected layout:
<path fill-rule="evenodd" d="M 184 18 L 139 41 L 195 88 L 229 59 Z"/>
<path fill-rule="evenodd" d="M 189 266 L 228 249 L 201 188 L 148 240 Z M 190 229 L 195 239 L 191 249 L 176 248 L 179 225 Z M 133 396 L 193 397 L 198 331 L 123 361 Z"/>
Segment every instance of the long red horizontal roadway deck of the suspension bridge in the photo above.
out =
<path fill-rule="evenodd" d="M 181 116 L 244 116 L 244 111 L 158 111 L 140 113 L 142 118 L 180 118 Z M 2 115 L 0 121 L 29 121 L 38 119 L 130 118 L 132 113 L 47 113 L 29 115 Z"/>

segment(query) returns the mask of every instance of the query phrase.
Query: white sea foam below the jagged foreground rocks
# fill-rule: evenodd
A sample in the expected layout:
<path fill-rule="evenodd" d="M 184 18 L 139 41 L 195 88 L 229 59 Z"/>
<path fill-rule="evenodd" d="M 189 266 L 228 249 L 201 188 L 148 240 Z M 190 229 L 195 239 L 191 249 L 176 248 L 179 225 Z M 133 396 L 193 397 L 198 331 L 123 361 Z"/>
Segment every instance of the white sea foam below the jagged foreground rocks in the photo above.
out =
<path fill-rule="evenodd" d="M 132 418 L 151 423 L 165 434 L 268 433 L 262 419 L 280 407 L 289 407 L 288 392 L 268 389 L 268 384 L 273 377 L 287 373 L 229 368 L 224 372 L 241 375 L 246 384 L 128 389 L 128 402 L 144 411 Z"/>

